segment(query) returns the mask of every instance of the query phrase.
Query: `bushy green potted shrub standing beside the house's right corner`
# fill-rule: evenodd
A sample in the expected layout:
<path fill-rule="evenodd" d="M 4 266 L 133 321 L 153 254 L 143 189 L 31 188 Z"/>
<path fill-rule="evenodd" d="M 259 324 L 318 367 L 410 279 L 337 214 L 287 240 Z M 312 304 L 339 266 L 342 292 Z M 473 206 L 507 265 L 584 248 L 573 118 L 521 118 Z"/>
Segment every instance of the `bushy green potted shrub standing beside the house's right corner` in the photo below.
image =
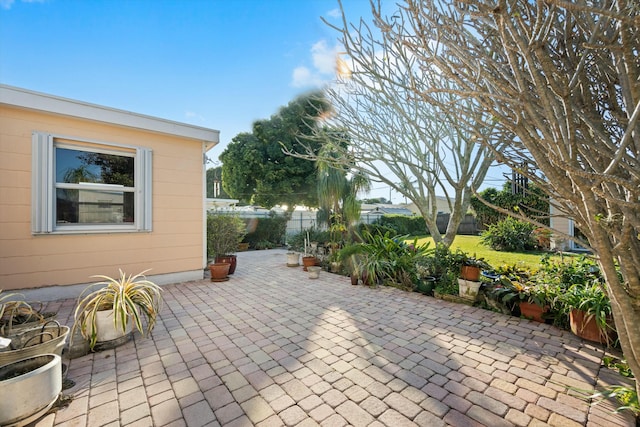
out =
<path fill-rule="evenodd" d="M 246 234 L 244 221 L 236 215 L 207 215 L 207 255 L 216 263 L 229 263 L 229 274 L 236 270 L 235 252 Z"/>

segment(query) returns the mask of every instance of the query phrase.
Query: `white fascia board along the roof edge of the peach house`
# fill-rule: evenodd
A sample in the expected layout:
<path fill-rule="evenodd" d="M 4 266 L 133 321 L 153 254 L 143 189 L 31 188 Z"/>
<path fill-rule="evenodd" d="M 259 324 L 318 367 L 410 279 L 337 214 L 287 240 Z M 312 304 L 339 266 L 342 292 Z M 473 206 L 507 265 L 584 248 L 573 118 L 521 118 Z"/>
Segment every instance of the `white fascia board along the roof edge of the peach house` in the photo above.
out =
<path fill-rule="evenodd" d="M 204 141 L 207 147 L 215 146 L 220 140 L 218 130 L 2 84 L 0 84 L 0 104 L 195 139 Z"/>

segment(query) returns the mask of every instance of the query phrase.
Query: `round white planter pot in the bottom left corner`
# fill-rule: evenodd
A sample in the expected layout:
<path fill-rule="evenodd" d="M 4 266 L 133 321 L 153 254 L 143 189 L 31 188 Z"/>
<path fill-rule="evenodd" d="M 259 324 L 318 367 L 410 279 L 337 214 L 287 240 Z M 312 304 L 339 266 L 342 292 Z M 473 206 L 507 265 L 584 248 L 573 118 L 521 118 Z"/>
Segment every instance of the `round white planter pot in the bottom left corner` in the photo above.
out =
<path fill-rule="evenodd" d="M 0 425 L 24 426 L 37 420 L 62 392 L 60 356 L 44 354 L 0 366 L 0 390 Z"/>

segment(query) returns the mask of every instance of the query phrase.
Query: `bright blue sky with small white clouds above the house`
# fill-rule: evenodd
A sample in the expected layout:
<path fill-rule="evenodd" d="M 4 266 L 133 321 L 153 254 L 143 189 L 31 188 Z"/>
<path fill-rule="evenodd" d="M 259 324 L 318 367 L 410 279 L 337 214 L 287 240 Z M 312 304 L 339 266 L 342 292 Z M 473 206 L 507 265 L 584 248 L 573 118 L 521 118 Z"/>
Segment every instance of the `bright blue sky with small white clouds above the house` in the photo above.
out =
<path fill-rule="evenodd" d="M 368 0 L 343 5 L 370 16 Z M 254 121 L 335 79 L 321 17 L 339 24 L 338 1 L 0 0 L 0 83 L 219 130 L 216 165 Z"/>

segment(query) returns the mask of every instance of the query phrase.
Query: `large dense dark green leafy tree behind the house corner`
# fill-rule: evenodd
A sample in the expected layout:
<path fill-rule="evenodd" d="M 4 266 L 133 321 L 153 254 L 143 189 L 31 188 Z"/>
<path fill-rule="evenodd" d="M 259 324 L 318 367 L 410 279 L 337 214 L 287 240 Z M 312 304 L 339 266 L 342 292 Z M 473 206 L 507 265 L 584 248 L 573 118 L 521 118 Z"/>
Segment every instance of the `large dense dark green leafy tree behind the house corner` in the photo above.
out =
<path fill-rule="evenodd" d="M 315 163 L 285 151 L 298 150 L 299 138 L 309 135 L 328 109 L 321 93 L 305 94 L 269 119 L 256 121 L 251 133 L 233 138 L 220 155 L 225 191 L 267 208 L 317 206 Z M 313 150 L 320 146 L 313 144 Z"/>

